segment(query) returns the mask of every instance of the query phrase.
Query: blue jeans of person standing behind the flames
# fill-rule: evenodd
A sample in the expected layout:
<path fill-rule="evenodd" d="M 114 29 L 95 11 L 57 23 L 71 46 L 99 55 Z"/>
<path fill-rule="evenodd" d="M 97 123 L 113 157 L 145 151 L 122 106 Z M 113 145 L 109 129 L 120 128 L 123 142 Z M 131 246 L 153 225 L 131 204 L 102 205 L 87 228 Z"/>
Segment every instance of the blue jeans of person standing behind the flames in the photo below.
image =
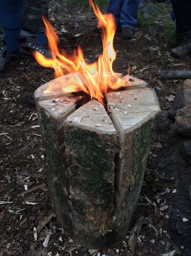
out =
<path fill-rule="evenodd" d="M 107 13 L 115 16 L 117 26 L 134 29 L 141 0 L 109 0 Z"/>

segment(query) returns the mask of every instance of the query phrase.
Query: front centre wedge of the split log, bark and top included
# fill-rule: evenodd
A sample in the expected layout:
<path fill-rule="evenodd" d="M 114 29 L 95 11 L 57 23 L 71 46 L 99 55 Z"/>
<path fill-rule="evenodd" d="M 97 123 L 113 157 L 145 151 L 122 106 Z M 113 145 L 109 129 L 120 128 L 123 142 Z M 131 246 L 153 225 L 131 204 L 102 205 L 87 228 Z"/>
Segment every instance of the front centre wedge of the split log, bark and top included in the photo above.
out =
<path fill-rule="evenodd" d="M 104 236 L 111 231 L 114 218 L 117 133 L 97 100 L 91 100 L 68 116 L 64 126 L 74 226 L 70 231 L 80 244 L 104 248 Z"/>

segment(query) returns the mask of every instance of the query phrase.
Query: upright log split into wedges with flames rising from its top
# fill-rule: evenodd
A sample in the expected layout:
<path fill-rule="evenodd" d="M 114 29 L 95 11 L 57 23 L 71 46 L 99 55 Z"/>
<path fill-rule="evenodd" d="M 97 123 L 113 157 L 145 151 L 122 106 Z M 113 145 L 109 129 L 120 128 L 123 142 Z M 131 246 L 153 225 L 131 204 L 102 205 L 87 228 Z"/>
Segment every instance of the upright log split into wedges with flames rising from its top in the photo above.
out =
<path fill-rule="evenodd" d="M 123 79 L 128 88 L 146 85 Z M 159 113 L 157 96 L 151 88 L 111 92 L 104 107 L 89 95 L 64 93 L 57 81 L 48 93 L 48 84 L 35 92 L 51 207 L 78 243 L 113 247 L 134 217 Z"/>

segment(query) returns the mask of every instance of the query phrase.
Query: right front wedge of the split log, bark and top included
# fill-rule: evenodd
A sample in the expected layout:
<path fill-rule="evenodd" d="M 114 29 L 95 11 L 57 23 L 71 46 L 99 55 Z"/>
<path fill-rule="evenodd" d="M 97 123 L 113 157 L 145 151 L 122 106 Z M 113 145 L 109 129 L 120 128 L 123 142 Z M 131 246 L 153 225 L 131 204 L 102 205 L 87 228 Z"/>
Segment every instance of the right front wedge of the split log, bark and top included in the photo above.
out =
<path fill-rule="evenodd" d="M 143 182 L 156 117 L 160 112 L 152 88 L 106 94 L 108 112 L 119 133 L 114 179 L 112 230 L 123 239 L 130 228 Z"/>

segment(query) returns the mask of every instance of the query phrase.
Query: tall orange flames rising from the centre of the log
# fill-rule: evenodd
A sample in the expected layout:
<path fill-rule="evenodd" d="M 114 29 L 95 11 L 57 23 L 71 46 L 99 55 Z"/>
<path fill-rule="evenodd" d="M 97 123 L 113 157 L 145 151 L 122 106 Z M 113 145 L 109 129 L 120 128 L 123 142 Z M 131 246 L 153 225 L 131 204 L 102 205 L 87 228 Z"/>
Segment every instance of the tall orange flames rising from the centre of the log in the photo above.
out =
<path fill-rule="evenodd" d="M 78 76 L 76 74 L 75 79 L 71 79 L 68 84 L 63 86 L 62 90 L 64 92 L 84 91 L 91 98 L 95 97 L 103 103 L 104 93 L 117 91 L 122 86 L 122 81 L 119 77 L 111 80 L 111 77 L 115 75 L 112 64 L 116 58 L 116 51 L 113 47 L 116 25 L 112 14 L 102 15 L 98 5 L 94 5 L 92 0 L 89 0 L 89 3 L 98 19 L 98 27 L 102 31 L 103 52 L 98 57 L 98 61 L 92 64 L 86 63 L 80 47 L 78 47 L 77 51 L 73 52 L 72 56 L 67 56 L 63 50 L 59 51 L 57 46 L 59 38 L 54 28 L 44 17 L 43 21 L 46 26 L 48 45 L 53 54 L 52 58 L 45 58 L 45 56 L 36 51 L 34 57 L 42 66 L 54 68 L 55 77 L 63 76 L 64 72 L 78 72 L 81 75 Z M 48 91 L 46 90 L 44 93 Z"/>

